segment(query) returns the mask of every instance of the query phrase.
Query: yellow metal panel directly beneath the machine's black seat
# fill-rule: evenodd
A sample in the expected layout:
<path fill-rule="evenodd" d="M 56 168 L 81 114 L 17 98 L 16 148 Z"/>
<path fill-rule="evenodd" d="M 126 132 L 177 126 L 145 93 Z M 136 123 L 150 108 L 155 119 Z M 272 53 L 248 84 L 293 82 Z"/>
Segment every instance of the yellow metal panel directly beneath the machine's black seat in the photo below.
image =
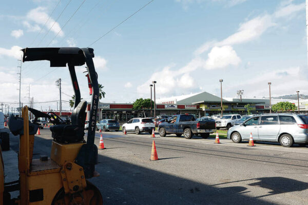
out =
<path fill-rule="evenodd" d="M 66 161 L 74 161 L 84 143 L 60 144 L 52 141 L 50 158 L 63 166 Z"/>

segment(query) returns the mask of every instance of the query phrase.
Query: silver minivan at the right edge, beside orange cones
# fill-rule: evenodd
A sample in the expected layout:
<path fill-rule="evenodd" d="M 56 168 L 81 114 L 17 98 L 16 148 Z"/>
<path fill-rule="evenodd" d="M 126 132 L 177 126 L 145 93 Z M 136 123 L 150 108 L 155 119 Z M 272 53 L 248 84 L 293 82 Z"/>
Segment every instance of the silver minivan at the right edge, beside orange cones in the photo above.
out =
<path fill-rule="evenodd" d="M 242 124 L 232 127 L 227 138 L 239 143 L 249 140 L 280 142 L 283 147 L 293 143 L 308 144 L 308 116 L 295 113 L 269 113 L 253 116 Z"/>

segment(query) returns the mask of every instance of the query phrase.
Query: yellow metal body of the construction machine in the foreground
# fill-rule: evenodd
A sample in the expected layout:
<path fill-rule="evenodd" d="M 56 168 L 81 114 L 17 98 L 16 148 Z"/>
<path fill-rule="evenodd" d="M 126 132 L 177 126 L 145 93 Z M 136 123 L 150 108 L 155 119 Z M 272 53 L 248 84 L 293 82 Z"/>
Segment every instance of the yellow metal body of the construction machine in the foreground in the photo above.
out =
<path fill-rule="evenodd" d="M 51 157 L 48 160 L 32 159 L 34 135 L 29 135 L 27 106 L 22 109 L 22 116 L 24 118 L 24 135 L 20 136 L 20 152 L 18 154 L 21 189 L 20 200 L 15 202 L 21 205 L 51 204 L 57 192 L 62 188 L 66 195 L 82 192 L 86 188 L 87 182 L 83 168 L 74 163 L 74 159 L 83 143 L 64 145 L 53 141 Z M 1 183 L 3 182 L 0 179 L 0 185 Z M 0 192 L 3 192 L 2 187 L 0 187 Z M 87 199 L 84 197 L 86 196 L 83 196 L 82 200 L 86 201 Z M 63 200 L 62 204 L 71 203 L 67 198 Z"/>

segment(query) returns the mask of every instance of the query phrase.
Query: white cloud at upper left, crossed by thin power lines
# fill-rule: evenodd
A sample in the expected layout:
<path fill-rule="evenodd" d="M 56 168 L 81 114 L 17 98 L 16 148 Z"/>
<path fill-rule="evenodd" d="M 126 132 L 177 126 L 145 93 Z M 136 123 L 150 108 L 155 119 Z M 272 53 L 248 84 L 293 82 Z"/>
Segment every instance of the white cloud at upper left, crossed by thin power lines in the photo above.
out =
<path fill-rule="evenodd" d="M 27 13 L 26 18 L 28 20 L 33 21 L 36 24 L 44 25 L 45 22 L 47 21 L 47 19 L 49 18 L 49 15 L 46 13 L 46 8 L 37 7 L 35 9 L 30 10 Z M 30 27 L 31 27 L 31 25 L 30 25 Z M 36 27 L 33 27 L 33 28 L 36 28 Z M 46 28 L 48 28 L 48 29 L 51 28 L 51 31 L 54 32 L 55 34 L 59 32 L 60 37 L 64 36 L 64 32 L 61 30 L 59 23 L 55 22 L 53 18 L 49 18 L 49 20 L 46 24 Z"/>

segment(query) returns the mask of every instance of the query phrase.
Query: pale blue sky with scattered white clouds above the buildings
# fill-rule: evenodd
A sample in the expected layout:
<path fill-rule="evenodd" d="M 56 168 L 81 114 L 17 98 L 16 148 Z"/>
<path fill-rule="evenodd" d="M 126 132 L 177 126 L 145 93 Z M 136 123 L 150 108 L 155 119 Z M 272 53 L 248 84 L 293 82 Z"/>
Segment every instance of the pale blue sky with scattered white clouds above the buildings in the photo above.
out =
<path fill-rule="evenodd" d="M 87 47 L 148 2 L 26 0 L 3 4 L 1 101 L 18 101 L 20 48 Z M 202 91 L 220 95 L 220 78 L 226 97 L 235 97 L 237 90 L 244 90 L 245 97 L 268 96 L 268 81 L 274 96 L 296 90 L 307 94 L 304 1 L 155 0 L 91 47 L 106 103 L 149 97 L 152 80 L 157 81 L 157 98 Z M 54 68 L 47 61 L 27 62 L 22 67 L 24 103 L 29 84 L 34 101 L 59 99 L 57 78 L 63 81 L 62 98 L 70 99 L 67 69 L 49 73 Z M 84 70 L 78 68 L 78 77 L 82 97 L 89 100 Z M 36 108 L 41 106 L 54 109 L 56 103 L 36 104 Z M 68 104 L 63 106 L 69 109 Z"/>

